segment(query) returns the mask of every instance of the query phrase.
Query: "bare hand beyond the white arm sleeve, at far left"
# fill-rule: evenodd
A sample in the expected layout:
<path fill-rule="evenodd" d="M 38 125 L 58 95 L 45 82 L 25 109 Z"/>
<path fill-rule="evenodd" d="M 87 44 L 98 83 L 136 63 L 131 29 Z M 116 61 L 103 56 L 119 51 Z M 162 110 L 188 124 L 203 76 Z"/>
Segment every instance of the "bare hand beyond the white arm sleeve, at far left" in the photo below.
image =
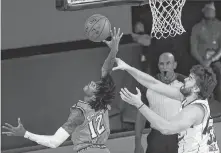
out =
<path fill-rule="evenodd" d="M 21 136 L 23 137 L 25 135 L 25 128 L 21 123 L 20 118 L 18 118 L 18 126 L 14 127 L 11 124 L 5 123 L 4 126 L 2 126 L 3 129 L 6 129 L 7 132 L 2 132 L 2 134 L 6 134 L 7 136 Z"/>

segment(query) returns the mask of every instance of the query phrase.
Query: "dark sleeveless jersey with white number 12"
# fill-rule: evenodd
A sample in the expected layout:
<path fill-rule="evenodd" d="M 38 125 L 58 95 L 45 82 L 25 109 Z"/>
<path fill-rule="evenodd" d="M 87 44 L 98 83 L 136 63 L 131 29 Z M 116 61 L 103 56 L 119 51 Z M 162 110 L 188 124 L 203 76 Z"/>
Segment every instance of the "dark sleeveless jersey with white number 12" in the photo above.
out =
<path fill-rule="evenodd" d="M 105 146 L 110 135 L 108 110 L 95 112 L 88 103 L 83 101 L 79 101 L 73 108 L 81 109 L 85 117 L 84 123 L 71 135 L 74 150 L 78 151 L 93 145 Z"/>

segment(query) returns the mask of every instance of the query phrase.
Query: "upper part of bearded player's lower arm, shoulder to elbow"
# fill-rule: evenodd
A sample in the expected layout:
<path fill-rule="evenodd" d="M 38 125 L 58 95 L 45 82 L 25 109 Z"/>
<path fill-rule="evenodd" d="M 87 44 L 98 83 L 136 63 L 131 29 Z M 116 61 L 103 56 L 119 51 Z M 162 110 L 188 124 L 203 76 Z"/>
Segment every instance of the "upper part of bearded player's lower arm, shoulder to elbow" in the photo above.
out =
<path fill-rule="evenodd" d="M 162 133 L 176 134 L 187 130 L 191 126 L 196 126 L 202 122 L 204 112 L 204 108 L 199 104 L 189 105 L 169 121 L 169 126 Z"/>

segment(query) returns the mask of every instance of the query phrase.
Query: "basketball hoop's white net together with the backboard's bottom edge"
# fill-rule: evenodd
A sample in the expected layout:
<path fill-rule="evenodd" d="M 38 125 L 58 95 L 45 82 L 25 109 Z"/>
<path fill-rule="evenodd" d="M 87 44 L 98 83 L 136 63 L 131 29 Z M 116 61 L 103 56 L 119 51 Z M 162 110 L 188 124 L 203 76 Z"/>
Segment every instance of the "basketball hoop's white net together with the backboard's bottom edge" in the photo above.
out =
<path fill-rule="evenodd" d="M 149 3 L 152 16 L 151 37 L 157 39 L 175 37 L 185 32 L 181 22 L 182 8 L 186 0 L 56 0 L 59 11 L 78 11 L 99 7 Z"/>

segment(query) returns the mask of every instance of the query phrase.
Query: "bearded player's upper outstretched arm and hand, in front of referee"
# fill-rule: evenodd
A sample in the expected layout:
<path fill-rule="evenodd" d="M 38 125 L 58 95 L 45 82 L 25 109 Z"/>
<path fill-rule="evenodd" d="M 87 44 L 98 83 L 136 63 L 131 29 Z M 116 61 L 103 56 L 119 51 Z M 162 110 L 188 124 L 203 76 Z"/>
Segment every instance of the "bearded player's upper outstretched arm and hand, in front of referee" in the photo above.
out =
<path fill-rule="evenodd" d="M 113 70 L 121 69 L 126 70 L 129 74 L 131 74 L 140 84 L 154 90 L 162 95 L 165 95 L 172 99 L 177 99 L 182 101 L 184 99 L 183 94 L 179 89 L 169 86 L 167 84 L 162 83 L 161 81 L 155 79 L 151 75 L 144 73 L 130 65 L 126 64 L 121 59 L 117 58 L 117 67 L 113 68 Z"/>

